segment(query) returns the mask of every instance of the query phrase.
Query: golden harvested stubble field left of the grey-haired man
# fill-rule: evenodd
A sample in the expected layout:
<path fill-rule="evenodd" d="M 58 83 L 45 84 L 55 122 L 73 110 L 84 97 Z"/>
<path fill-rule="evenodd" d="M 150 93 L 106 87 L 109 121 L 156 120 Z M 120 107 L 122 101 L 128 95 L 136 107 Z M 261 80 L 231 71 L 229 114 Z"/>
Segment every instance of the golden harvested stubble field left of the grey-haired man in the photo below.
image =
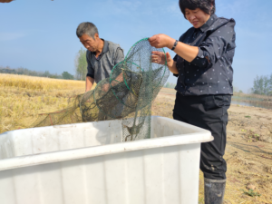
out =
<path fill-rule="evenodd" d="M 0 73 L 0 133 L 29 127 L 39 113 L 62 110 L 84 87 L 83 81 Z"/>

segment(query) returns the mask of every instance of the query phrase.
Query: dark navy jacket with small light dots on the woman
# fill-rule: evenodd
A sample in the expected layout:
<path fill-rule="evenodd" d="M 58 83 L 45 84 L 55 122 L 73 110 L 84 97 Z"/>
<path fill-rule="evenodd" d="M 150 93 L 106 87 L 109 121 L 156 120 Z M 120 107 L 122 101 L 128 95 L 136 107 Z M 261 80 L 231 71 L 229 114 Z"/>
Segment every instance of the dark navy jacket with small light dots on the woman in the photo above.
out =
<path fill-rule="evenodd" d="M 180 36 L 180 42 L 199 47 L 191 62 L 174 57 L 179 74 L 176 90 L 183 95 L 232 94 L 232 61 L 236 47 L 234 19 L 211 15 L 200 28 Z"/>

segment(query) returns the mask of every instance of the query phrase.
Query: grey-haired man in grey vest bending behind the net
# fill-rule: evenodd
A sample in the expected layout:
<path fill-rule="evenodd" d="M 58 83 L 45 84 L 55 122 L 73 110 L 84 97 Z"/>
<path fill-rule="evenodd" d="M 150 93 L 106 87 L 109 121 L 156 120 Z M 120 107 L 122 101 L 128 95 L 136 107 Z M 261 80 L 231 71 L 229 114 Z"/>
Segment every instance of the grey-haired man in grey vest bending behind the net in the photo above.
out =
<path fill-rule="evenodd" d="M 112 68 L 124 59 L 123 50 L 119 44 L 100 38 L 97 27 L 90 22 L 79 24 L 76 35 L 87 49 L 88 73 L 85 91 L 88 92 L 94 82 L 99 83 L 110 77 Z M 105 87 L 105 91 L 108 88 L 109 86 Z"/>

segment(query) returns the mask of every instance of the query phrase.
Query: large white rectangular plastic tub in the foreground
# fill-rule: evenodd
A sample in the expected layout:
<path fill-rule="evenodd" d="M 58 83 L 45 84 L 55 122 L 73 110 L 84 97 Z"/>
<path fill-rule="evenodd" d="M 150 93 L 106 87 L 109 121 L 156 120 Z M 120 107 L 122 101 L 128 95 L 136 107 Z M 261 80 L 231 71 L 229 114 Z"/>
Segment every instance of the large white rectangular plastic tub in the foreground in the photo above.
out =
<path fill-rule="evenodd" d="M 151 139 L 121 141 L 121 121 L 0 134 L 1 204 L 197 204 L 209 131 L 152 117 Z"/>

